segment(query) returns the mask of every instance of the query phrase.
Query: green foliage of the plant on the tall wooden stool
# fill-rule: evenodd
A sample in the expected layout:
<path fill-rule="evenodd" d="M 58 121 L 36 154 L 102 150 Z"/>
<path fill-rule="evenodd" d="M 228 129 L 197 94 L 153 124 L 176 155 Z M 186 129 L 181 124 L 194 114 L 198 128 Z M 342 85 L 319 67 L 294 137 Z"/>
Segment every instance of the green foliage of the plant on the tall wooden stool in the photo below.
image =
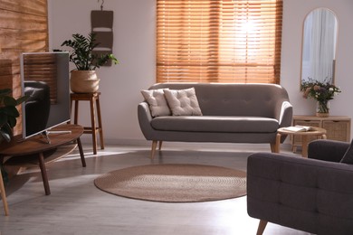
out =
<path fill-rule="evenodd" d="M 73 51 L 69 59 L 75 64 L 78 71 L 95 71 L 109 60 L 114 64 L 119 63 L 113 54 L 107 53 L 99 55 L 97 52 L 93 52 L 99 44 L 100 43 L 96 42 L 95 33 L 89 33 L 87 37 L 80 33 L 75 33 L 72 34 L 72 39 L 62 42 L 62 46 L 72 48 Z"/>

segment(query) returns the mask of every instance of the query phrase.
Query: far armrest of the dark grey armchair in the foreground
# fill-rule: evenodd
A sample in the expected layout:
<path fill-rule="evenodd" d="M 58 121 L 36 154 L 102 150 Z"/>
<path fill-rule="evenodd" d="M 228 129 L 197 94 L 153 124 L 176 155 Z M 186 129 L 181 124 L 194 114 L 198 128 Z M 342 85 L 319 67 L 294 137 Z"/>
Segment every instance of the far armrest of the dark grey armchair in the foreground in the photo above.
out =
<path fill-rule="evenodd" d="M 339 163 L 348 147 L 349 143 L 346 142 L 328 139 L 313 140 L 308 146 L 308 157 Z"/>

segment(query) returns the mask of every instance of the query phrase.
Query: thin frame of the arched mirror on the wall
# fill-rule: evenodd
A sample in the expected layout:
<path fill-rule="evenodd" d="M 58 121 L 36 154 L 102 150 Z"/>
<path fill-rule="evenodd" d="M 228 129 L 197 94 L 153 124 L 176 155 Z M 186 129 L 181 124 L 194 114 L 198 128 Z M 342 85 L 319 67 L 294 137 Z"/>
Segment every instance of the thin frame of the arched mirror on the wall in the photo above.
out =
<path fill-rule="evenodd" d="M 302 37 L 301 37 L 301 75 L 300 75 L 300 89 L 301 89 L 301 82 L 302 80 L 308 80 L 308 78 L 304 79 L 303 78 L 303 56 L 304 56 L 304 41 L 305 41 L 305 24 L 306 24 L 306 21 L 308 19 L 308 17 L 310 16 L 310 14 L 312 14 L 313 12 L 315 11 L 318 11 L 318 10 L 327 10 L 329 11 L 331 14 L 333 14 L 333 16 L 335 17 L 336 19 L 336 33 L 334 35 L 334 41 L 335 41 L 335 45 L 334 45 L 334 63 L 333 63 L 333 69 L 332 69 L 332 78 L 331 78 L 331 84 L 335 84 L 335 73 L 336 73 L 336 61 L 337 61 L 337 44 L 338 44 L 338 38 L 339 38 L 339 19 L 337 17 L 337 14 L 335 14 L 334 11 L 332 11 L 331 9 L 327 8 L 327 7 L 318 7 L 318 8 L 315 8 L 313 10 L 311 10 L 304 18 L 304 21 L 303 21 L 303 24 L 302 24 Z M 315 80 L 314 78 L 312 78 L 313 80 Z M 324 80 L 320 80 L 320 81 L 324 81 Z"/>

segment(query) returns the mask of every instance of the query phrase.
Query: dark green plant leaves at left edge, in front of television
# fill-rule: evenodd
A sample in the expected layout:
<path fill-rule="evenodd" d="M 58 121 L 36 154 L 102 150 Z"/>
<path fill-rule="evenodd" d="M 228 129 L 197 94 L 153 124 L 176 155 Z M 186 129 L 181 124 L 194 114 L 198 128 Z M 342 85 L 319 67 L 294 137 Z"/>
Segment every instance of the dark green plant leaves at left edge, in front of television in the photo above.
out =
<path fill-rule="evenodd" d="M 13 128 L 17 124 L 16 118 L 20 116 L 17 105 L 28 99 L 27 96 L 14 99 L 11 89 L 0 89 L 0 136 L 7 142 L 13 136 Z"/>

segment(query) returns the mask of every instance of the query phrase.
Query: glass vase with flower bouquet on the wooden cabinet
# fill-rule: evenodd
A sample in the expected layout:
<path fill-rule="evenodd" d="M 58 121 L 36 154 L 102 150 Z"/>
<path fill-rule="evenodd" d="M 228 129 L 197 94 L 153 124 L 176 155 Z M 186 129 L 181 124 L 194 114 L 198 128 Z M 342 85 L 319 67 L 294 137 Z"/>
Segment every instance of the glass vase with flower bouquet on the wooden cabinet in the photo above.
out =
<path fill-rule="evenodd" d="M 305 99 L 315 99 L 318 103 L 316 116 L 321 118 L 329 117 L 329 100 L 339 94 L 341 90 L 328 81 L 302 80 L 301 91 L 304 92 Z"/>

